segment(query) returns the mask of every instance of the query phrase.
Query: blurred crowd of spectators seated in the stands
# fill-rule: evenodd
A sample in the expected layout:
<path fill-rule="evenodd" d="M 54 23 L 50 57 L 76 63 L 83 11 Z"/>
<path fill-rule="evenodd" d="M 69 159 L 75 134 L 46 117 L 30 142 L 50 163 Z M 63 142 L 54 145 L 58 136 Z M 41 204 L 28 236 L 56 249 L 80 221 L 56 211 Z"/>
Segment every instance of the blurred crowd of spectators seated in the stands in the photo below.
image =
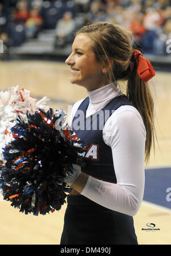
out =
<path fill-rule="evenodd" d="M 54 30 L 54 48 L 65 47 L 87 23 L 107 21 L 132 30 L 145 53 L 166 55 L 171 39 L 171 0 L 0 0 L 4 52 Z"/>

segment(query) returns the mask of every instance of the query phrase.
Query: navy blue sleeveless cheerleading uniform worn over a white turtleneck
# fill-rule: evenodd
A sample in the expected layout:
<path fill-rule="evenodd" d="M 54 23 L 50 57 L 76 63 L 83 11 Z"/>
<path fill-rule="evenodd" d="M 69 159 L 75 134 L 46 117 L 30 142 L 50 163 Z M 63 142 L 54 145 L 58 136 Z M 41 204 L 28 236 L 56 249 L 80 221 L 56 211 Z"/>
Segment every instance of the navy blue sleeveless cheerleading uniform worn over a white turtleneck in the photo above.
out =
<path fill-rule="evenodd" d="M 86 166 L 82 171 L 100 180 L 117 183 L 112 150 L 104 143 L 103 127 L 113 111 L 132 104 L 125 95 L 119 95 L 86 118 L 88 104 L 89 97 L 80 104 L 72 120 L 72 130 L 87 145 L 83 156 Z M 75 129 L 80 111 L 84 112 L 84 122 L 82 129 Z M 82 195 L 68 196 L 60 244 L 137 245 L 133 217 L 107 209 Z"/>

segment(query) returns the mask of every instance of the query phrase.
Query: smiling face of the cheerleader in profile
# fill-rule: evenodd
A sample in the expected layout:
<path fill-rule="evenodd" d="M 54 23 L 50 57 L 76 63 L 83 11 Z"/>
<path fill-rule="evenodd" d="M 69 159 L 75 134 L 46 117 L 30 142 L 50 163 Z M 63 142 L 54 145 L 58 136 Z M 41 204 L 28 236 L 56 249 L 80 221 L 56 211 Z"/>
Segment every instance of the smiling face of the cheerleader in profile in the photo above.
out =
<path fill-rule="evenodd" d="M 88 91 L 96 90 L 108 84 L 100 62 L 97 62 L 91 48 L 91 39 L 86 34 L 79 34 L 72 44 L 72 53 L 66 59 L 71 67 L 70 82 L 85 87 Z"/>

